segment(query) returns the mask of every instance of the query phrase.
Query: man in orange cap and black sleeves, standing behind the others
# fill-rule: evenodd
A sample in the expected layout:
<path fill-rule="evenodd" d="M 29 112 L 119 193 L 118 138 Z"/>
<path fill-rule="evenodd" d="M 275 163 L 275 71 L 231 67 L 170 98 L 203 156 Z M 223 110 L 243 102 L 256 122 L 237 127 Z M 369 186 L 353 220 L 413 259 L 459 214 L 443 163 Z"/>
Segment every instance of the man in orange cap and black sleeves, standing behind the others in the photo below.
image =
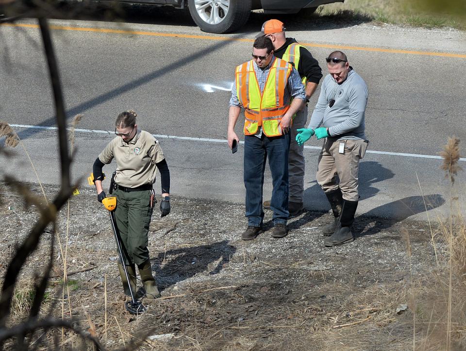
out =
<path fill-rule="evenodd" d="M 293 117 L 291 127 L 291 145 L 288 155 L 290 217 L 298 216 L 303 210 L 304 192 L 304 155 L 303 145 L 296 142 L 297 129 L 305 128 L 307 122 L 307 102 L 316 91 L 322 78 L 322 70 L 317 60 L 294 38 L 285 37 L 285 27 L 278 19 L 269 19 L 262 25 L 262 31 L 256 37 L 266 36 L 273 44 L 274 55 L 291 63 L 300 74 L 306 90 L 306 105 Z M 270 201 L 264 201 L 264 208 L 270 208 Z"/>

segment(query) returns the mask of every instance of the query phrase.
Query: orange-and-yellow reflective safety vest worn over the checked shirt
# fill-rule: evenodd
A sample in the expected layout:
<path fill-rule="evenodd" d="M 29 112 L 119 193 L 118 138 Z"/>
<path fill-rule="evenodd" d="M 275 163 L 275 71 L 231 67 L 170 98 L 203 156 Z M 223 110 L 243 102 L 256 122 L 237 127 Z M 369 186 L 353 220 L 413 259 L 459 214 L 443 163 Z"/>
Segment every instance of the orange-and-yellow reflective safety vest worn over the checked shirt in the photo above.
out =
<path fill-rule="evenodd" d="M 279 124 L 290 108 L 283 97 L 292 69 L 286 61 L 275 58 L 261 94 L 253 61 L 236 67 L 236 95 L 245 110 L 245 135 L 256 134 L 259 126 L 267 136 L 282 135 Z"/>

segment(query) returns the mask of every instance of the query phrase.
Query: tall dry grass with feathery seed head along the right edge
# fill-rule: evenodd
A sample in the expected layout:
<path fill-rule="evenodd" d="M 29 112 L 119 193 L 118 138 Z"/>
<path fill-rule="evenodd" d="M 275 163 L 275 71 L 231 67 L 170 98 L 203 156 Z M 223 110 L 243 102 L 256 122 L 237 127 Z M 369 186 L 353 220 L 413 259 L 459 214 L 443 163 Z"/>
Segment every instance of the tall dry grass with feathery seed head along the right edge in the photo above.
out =
<path fill-rule="evenodd" d="M 466 348 L 466 223 L 459 206 L 455 176 L 461 170 L 458 138 L 449 138 L 440 152 L 441 168 L 449 179 L 450 214 L 441 219 L 446 243 L 440 265 L 418 289 L 414 323 L 421 326 L 422 350 L 464 350 Z M 410 251 L 408 250 L 410 257 Z M 414 349 L 414 347 L 413 347 Z"/>

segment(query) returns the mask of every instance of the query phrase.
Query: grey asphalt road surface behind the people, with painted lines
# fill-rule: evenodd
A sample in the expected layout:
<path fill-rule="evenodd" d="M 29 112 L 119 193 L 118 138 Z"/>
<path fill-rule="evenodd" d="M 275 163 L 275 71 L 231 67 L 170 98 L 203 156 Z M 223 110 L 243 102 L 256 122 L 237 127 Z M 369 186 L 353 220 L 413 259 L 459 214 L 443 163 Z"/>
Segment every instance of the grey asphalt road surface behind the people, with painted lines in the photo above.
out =
<path fill-rule="evenodd" d="M 174 10 L 145 23 L 52 20 L 69 120 L 84 115 L 76 133 L 75 179 L 92 170 L 113 137 L 107 131 L 114 130 L 116 115 L 133 109 L 138 126 L 159 135 L 173 195 L 244 201 L 242 145 L 232 155 L 225 141 L 229 90 L 234 67 L 250 59 L 254 34 L 268 18 L 254 14 L 242 33 L 222 36 L 200 32 Z M 287 20 L 287 36 L 309 46 L 324 74 L 324 58 L 339 48 L 368 85 L 370 144 L 361 163 L 358 213 L 425 218 L 424 195 L 435 208 L 430 218 L 446 214 L 449 183 L 437 152 L 456 135 L 466 156 L 465 33 Z M 0 26 L 0 45 L 0 119 L 14 126 L 41 181 L 58 183 L 50 83 L 35 22 Z M 241 135 L 240 121 L 237 127 Z M 320 144 L 312 138 L 305 149 L 305 205 L 316 210 L 329 208 L 315 182 Z M 36 182 L 24 151 L 15 153 L 0 159 L 1 172 Z M 112 166 L 104 170 L 111 173 Z M 463 206 L 465 183 L 460 172 Z M 266 198 L 270 184 L 267 172 Z"/>

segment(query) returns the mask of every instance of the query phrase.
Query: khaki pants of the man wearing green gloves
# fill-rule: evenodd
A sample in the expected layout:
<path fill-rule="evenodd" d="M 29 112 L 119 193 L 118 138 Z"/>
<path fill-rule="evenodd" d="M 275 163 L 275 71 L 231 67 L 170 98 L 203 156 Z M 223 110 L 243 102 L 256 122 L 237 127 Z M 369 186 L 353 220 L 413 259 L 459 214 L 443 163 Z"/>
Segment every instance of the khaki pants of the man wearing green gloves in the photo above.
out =
<path fill-rule="evenodd" d="M 344 144 L 343 153 L 339 152 L 340 143 Z M 337 190 L 339 187 L 344 200 L 358 201 L 359 160 L 364 157 L 367 144 L 364 140 L 325 139 L 316 175 L 317 183 L 324 192 Z"/>

